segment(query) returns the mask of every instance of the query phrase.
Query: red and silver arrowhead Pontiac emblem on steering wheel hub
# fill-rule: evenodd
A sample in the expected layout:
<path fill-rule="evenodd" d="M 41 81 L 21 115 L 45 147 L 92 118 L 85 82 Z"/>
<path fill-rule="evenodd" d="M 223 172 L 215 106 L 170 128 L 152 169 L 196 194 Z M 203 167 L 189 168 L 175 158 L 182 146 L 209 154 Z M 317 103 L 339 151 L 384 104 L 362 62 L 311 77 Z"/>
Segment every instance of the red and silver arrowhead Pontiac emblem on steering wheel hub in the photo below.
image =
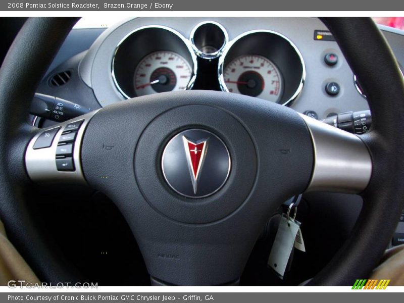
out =
<path fill-rule="evenodd" d="M 201 139 L 198 140 L 197 142 L 192 142 L 191 140 L 187 139 L 187 137 L 182 136 L 182 140 L 184 142 L 189 174 L 191 175 L 192 179 L 193 193 L 196 194 L 198 186 L 198 177 L 200 170 L 204 165 L 206 152 L 208 150 L 209 139 Z"/>

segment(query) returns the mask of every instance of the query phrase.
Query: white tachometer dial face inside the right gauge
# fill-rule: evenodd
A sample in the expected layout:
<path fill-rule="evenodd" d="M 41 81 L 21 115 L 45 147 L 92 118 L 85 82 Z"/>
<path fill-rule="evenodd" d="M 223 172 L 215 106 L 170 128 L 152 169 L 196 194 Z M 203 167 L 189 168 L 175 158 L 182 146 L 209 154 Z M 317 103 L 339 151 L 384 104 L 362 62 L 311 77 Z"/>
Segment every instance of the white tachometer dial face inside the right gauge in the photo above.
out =
<path fill-rule="evenodd" d="M 224 69 L 223 78 L 230 92 L 279 102 L 282 76 L 270 60 L 258 55 L 244 55 L 232 60 Z"/>

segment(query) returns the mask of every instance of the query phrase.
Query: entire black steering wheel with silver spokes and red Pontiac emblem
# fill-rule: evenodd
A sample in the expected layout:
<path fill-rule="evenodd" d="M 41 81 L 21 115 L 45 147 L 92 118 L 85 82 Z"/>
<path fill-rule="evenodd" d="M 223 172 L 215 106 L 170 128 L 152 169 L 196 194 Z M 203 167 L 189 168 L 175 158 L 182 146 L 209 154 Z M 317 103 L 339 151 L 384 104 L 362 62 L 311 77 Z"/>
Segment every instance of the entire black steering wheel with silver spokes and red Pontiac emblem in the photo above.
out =
<path fill-rule="evenodd" d="M 404 207 L 404 85 L 370 18 L 323 19 L 368 96 L 373 127 L 361 136 L 217 91 L 137 97 L 39 130 L 27 124 L 27 109 L 75 22 L 29 19 L 0 71 L 1 218 L 42 280 L 79 278 L 27 211 L 32 181 L 87 184 L 107 194 L 153 281 L 177 285 L 237 281 L 268 218 L 288 197 L 359 193 L 364 206 L 354 230 L 309 284 L 367 277 Z M 62 141 L 71 143 L 58 146 Z"/>

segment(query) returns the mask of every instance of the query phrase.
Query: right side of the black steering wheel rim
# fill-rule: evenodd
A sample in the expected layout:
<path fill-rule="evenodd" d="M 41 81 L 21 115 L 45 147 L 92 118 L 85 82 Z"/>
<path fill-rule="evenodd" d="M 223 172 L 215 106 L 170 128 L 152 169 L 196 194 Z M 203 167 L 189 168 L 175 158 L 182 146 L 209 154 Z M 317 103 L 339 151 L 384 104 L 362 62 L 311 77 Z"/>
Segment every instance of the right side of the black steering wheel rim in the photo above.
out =
<path fill-rule="evenodd" d="M 310 282 L 312 285 L 350 285 L 366 278 L 387 247 L 404 207 L 404 142 L 397 125 L 404 111 L 404 86 L 395 57 L 371 18 L 324 18 L 349 66 L 369 93 L 372 131 L 361 136 L 372 157 L 372 177 L 361 194 L 360 217 L 350 238 L 332 261 Z M 378 73 L 376 66 L 382 66 Z M 391 85 L 390 85 L 391 84 Z M 348 258 L 344 256 L 349 256 Z"/>

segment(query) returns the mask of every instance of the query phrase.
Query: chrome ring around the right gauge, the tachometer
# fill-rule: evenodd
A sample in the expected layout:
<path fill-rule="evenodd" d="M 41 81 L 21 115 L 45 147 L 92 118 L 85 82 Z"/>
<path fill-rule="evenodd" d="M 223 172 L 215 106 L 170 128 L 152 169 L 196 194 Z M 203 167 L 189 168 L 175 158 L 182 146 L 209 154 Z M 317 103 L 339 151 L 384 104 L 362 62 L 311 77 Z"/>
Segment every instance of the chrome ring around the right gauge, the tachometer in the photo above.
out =
<path fill-rule="evenodd" d="M 272 30 L 267 30 L 267 29 L 257 29 L 257 30 L 250 30 L 250 31 L 246 31 L 241 33 L 240 35 L 236 36 L 233 40 L 229 41 L 227 43 L 227 45 L 224 47 L 223 53 L 222 55 L 219 57 L 219 65 L 218 65 L 218 78 L 219 78 L 219 85 L 222 91 L 225 92 L 229 92 L 226 83 L 224 81 L 224 62 L 226 59 L 226 56 L 228 55 L 229 51 L 231 50 L 231 48 L 233 47 L 233 45 L 240 39 L 245 38 L 248 35 L 251 34 L 256 34 L 256 33 L 269 33 L 269 34 L 273 34 L 273 35 L 277 35 L 280 38 L 286 40 L 286 42 L 294 49 L 295 53 L 297 54 L 300 64 L 301 64 L 301 77 L 300 77 L 300 83 L 297 87 L 297 89 L 294 91 L 294 93 L 292 94 L 291 97 L 289 97 L 285 102 L 281 103 L 281 105 L 283 106 L 290 106 L 296 99 L 297 97 L 300 95 L 301 90 L 303 89 L 303 86 L 305 84 L 305 80 L 306 80 L 306 64 L 305 61 L 299 51 L 299 49 L 297 48 L 297 46 L 285 35 L 282 35 L 281 33 L 278 33 L 276 31 L 272 31 Z M 256 54 L 245 54 L 245 55 L 256 55 Z M 268 58 L 271 62 L 271 58 Z M 278 68 L 280 69 L 280 67 L 278 66 Z M 281 69 L 280 69 L 281 70 Z M 282 70 L 281 70 L 282 73 Z"/>

